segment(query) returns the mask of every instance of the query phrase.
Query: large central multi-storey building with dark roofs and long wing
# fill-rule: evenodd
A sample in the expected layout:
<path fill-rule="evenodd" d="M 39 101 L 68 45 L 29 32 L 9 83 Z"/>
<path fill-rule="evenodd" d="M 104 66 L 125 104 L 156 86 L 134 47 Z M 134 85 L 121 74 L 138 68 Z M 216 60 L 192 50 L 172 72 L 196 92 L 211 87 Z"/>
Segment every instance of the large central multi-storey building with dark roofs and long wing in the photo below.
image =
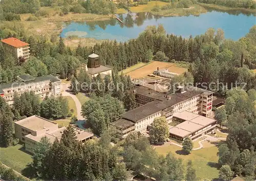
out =
<path fill-rule="evenodd" d="M 120 115 L 112 123 L 117 135 L 124 138 L 132 131 L 145 133 L 154 118 L 164 116 L 172 122 L 175 112 L 189 111 L 208 117 L 211 115 L 213 92 L 197 87 L 179 87 L 175 94 L 159 93 L 142 86 L 135 89 L 136 101 L 140 107 Z"/>

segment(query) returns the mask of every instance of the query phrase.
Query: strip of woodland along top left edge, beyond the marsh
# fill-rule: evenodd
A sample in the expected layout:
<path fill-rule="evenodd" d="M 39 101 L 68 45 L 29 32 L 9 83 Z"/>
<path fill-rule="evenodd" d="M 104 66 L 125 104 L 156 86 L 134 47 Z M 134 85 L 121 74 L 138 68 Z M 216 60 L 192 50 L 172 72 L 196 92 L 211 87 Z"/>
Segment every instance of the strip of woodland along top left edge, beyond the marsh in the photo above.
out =
<path fill-rule="evenodd" d="M 33 19 L 36 19 L 36 17 L 47 15 L 47 12 L 45 12 L 44 10 L 40 10 L 40 7 L 59 8 L 61 9 L 61 16 L 68 14 L 69 12 L 108 15 L 114 14 L 117 10 L 116 4 L 106 0 L 3 0 L 0 2 L 0 20 L 20 20 L 19 14 L 24 13 L 33 14 Z"/>

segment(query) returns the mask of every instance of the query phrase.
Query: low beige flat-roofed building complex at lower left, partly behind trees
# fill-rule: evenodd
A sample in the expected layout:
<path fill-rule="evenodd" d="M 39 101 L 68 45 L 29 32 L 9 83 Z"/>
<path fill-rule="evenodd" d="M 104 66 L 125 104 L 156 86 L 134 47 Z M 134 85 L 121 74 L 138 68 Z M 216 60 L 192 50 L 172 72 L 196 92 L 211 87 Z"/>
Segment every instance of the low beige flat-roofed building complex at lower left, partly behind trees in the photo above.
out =
<path fill-rule="evenodd" d="M 93 133 L 74 127 L 78 141 L 93 139 Z M 25 149 L 33 153 L 33 149 L 42 137 L 47 137 L 53 143 L 67 127 L 58 128 L 58 124 L 40 116 L 34 115 L 14 122 L 15 137 L 25 143 Z"/>

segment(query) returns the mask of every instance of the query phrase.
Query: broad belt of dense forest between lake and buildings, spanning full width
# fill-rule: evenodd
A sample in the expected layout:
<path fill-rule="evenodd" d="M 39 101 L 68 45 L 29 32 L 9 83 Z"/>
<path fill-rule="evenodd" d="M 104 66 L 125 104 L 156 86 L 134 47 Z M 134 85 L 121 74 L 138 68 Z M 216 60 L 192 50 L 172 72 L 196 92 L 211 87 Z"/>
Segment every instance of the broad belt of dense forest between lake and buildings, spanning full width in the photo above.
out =
<path fill-rule="evenodd" d="M 0 48 L 0 83 L 10 83 L 16 75 L 29 73 L 33 76 L 45 74 L 59 75 L 61 79 L 76 75 L 76 69 L 87 63 L 92 47 L 78 45 L 71 50 L 63 39 L 55 36 L 27 36 L 20 24 L 0 26 L 3 38 L 17 37 L 30 43 L 31 59 L 23 64 Z M 255 74 L 249 69 L 256 68 L 255 49 L 256 26 L 238 41 L 224 39 L 224 32 L 210 28 L 203 35 L 184 39 L 168 35 L 162 25 L 150 26 L 137 39 L 128 42 L 104 41 L 94 46 L 103 65 L 121 71 L 138 62 L 150 59 L 169 62 L 189 63 L 189 72 L 195 83 L 227 83 L 227 88 L 238 83 L 247 83 L 246 89 L 255 88 Z M 154 57 L 153 57 L 154 56 Z M 163 58 L 164 57 L 164 58 Z M 243 59 L 242 59 L 243 58 Z"/>

